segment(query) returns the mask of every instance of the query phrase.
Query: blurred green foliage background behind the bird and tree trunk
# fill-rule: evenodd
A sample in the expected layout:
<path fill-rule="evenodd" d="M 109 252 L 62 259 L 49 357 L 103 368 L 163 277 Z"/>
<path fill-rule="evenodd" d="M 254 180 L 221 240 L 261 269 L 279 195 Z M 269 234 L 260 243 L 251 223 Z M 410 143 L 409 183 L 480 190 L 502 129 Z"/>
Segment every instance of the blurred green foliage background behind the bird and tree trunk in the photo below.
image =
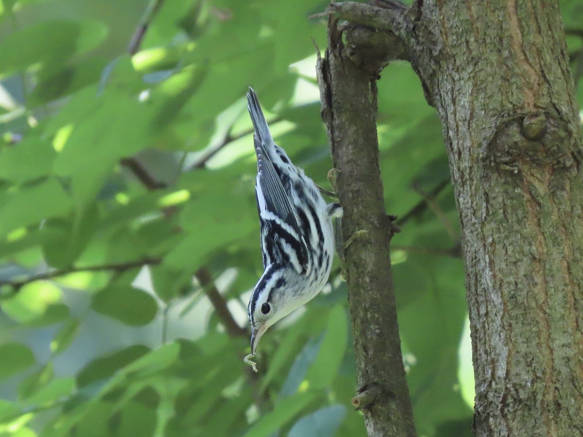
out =
<path fill-rule="evenodd" d="M 578 84 L 583 5 L 561 6 Z M 308 19 L 325 7 L 0 1 L 0 435 L 366 435 L 338 262 L 264 337 L 259 373 L 242 361 L 261 274 L 245 91 L 328 186 Z M 382 73 L 378 132 L 416 426 L 470 435 L 455 202 L 408 64 Z"/>

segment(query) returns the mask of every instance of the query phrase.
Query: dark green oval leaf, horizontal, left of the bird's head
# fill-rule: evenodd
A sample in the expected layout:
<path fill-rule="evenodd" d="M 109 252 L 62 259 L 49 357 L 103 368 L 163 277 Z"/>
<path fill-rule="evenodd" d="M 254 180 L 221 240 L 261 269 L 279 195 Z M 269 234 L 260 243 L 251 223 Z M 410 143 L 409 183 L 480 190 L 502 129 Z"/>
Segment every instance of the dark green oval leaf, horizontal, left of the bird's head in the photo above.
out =
<path fill-rule="evenodd" d="M 130 326 L 147 325 L 158 312 L 158 304 L 152 295 L 129 285 L 115 283 L 94 295 L 91 307 L 100 314 Z"/>

